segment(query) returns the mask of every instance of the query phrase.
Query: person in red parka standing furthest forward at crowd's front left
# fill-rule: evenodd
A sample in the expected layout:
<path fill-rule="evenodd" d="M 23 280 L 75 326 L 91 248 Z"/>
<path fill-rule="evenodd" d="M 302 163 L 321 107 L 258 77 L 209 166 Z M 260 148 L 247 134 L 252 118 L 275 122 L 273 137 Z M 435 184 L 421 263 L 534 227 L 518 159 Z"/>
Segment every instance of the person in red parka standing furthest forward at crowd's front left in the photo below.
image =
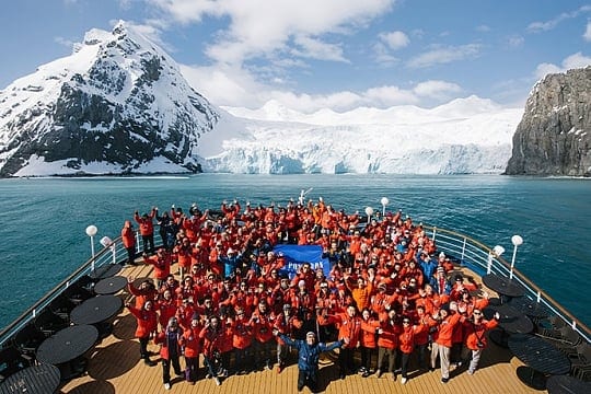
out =
<path fill-rule="evenodd" d="M 154 338 L 154 344 L 160 344 L 160 358 L 162 359 L 162 382 L 164 389 L 171 389 L 171 364 L 177 376 L 183 376 L 178 358 L 184 346 L 183 328 L 178 326 L 176 317 L 171 317 L 166 328 Z"/>

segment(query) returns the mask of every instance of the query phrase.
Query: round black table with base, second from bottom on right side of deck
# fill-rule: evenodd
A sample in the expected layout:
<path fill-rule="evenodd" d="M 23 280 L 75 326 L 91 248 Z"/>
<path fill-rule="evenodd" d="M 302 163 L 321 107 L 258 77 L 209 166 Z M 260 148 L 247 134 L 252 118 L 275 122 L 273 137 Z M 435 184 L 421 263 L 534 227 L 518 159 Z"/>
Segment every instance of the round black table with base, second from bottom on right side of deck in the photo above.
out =
<path fill-rule="evenodd" d="M 545 389 L 546 374 L 560 375 L 570 371 L 568 357 L 538 336 L 513 334 L 508 345 L 513 355 L 529 367 L 518 368 L 518 378 L 533 389 Z"/>

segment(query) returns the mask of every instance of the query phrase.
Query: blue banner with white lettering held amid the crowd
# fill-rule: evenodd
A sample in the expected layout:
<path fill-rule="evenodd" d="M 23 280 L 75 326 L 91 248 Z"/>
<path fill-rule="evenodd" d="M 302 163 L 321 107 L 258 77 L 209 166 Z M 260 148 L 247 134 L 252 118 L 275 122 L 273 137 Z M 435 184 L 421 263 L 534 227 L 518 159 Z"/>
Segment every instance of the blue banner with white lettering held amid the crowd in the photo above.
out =
<path fill-rule="evenodd" d="M 320 245 L 286 245 L 280 244 L 273 248 L 276 254 L 282 254 L 286 258 L 286 265 L 279 269 L 280 274 L 287 274 L 289 279 L 293 279 L 298 269 L 304 263 L 310 263 L 313 270 L 322 267 L 324 276 L 331 274 L 331 263 L 328 258 L 322 257 L 322 246 Z"/>

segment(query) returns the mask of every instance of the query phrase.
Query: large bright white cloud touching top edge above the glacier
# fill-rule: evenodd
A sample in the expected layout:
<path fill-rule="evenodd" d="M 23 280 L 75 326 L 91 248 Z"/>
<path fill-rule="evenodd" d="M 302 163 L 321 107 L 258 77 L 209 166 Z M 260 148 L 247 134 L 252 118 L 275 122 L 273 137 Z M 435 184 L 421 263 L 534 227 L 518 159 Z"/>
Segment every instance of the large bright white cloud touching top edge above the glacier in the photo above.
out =
<path fill-rule="evenodd" d="M 323 34 L 345 34 L 391 10 L 394 0 L 148 0 L 181 23 L 199 22 L 204 16 L 228 18 L 217 42 L 206 53 L 218 62 L 241 63 L 245 59 L 289 51 L 290 39 Z M 331 44 L 331 60 L 336 55 Z M 310 56 L 310 51 L 301 55 Z M 324 55 L 327 55 L 324 53 Z"/>

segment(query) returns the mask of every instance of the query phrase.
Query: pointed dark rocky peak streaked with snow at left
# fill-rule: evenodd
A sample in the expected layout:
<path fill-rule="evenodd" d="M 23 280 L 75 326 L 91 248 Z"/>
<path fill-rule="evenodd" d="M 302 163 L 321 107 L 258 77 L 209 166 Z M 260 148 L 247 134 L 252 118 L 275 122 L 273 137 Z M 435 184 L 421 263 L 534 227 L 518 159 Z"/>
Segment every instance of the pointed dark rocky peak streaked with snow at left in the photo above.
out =
<path fill-rule="evenodd" d="M 119 22 L 0 92 L 0 176 L 198 172 L 219 118 L 161 48 Z"/>

